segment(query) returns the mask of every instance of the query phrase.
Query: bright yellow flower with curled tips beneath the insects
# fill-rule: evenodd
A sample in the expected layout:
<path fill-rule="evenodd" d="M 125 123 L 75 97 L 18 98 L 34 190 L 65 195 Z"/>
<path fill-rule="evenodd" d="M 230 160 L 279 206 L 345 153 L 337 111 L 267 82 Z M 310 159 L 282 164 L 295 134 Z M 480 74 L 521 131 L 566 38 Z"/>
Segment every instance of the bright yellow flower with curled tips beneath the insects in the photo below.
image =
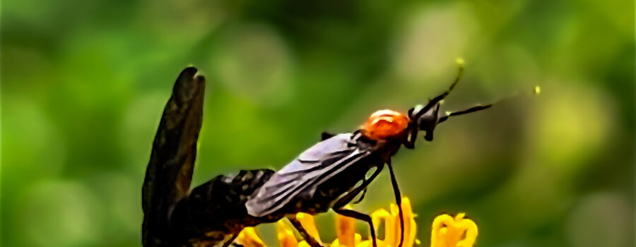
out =
<path fill-rule="evenodd" d="M 413 247 L 419 244 L 416 239 L 417 226 L 415 222 L 416 215 L 413 214 L 411 201 L 408 198 L 402 199 L 402 210 L 404 212 L 404 243 L 403 247 Z M 398 246 L 400 241 L 400 217 L 398 207 L 391 204 L 390 211 L 381 208 L 375 210 L 371 214 L 374 226 L 379 226 L 384 220 L 384 239 L 377 239 L 377 247 L 394 247 Z M 298 213 L 296 218 L 302 224 L 316 241 L 322 243 L 314 217 L 305 213 Z M 470 219 L 463 219 L 464 214 L 461 213 L 457 217 L 452 218 L 449 215 L 440 215 L 435 218 L 432 226 L 431 247 L 471 247 L 477 236 L 477 226 Z M 362 240 L 362 236 L 355 232 L 355 224 L 357 219 L 336 216 L 336 234 L 337 239 L 331 242 L 331 247 L 371 247 L 373 246 L 370 239 Z M 465 232 L 465 234 L 464 234 Z M 276 238 L 281 247 L 310 247 L 306 241 L 298 241 L 294 234 L 294 230 L 289 224 L 283 220 L 276 223 Z M 245 247 L 264 247 L 263 241 L 253 227 L 246 227 L 241 231 L 236 239 Z"/>

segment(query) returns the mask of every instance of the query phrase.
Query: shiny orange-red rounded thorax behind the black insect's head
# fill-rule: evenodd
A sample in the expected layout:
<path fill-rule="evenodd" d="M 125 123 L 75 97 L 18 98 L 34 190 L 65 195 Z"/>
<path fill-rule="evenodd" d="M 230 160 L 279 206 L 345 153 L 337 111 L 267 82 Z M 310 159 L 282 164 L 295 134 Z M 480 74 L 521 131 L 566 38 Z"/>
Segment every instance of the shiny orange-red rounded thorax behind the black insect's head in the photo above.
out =
<path fill-rule="evenodd" d="M 409 119 L 404 114 L 391 110 L 380 110 L 370 116 L 363 126 L 363 133 L 372 140 L 383 140 L 401 135 L 408 127 Z"/>

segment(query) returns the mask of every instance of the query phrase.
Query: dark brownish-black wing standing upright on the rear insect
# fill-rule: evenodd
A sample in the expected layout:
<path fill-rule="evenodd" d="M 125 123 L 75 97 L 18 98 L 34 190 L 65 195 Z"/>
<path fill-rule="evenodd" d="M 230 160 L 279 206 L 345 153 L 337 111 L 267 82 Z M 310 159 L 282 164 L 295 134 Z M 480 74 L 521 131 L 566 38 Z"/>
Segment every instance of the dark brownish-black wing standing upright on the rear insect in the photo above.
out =
<path fill-rule="evenodd" d="M 190 189 L 204 93 L 204 77 L 196 74 L 196 68 L 186 68 L 163 110 L 141 187 L 143 246 L 169 242 L 162 233 L 166 231 L 170 208 Z"/>

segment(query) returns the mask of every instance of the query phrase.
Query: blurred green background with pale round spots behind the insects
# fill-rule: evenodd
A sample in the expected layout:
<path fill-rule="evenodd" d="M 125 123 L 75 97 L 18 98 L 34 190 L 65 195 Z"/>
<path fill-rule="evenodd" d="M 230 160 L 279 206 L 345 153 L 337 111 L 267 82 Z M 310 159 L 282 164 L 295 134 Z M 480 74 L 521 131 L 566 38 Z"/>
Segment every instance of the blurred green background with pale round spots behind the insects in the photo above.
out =
<path fill-rule="evenodd" d="M 194 185 L 280 168 L 322 131 L 541 85 L 394 159 L 428 246 L 634 246 L 632 1 L 38 1 L 1 6 L 2 246 L 140 246 L 141 183 L 172 83 L 208 81 Z M 355 207 L 393 201 L 387 174 Z M 317 218 L 323 239 L 333 215 Z M 360 226 L 363 233 L 364 226 Z M 273 239 L 271 226 L 261 227 Z"/>

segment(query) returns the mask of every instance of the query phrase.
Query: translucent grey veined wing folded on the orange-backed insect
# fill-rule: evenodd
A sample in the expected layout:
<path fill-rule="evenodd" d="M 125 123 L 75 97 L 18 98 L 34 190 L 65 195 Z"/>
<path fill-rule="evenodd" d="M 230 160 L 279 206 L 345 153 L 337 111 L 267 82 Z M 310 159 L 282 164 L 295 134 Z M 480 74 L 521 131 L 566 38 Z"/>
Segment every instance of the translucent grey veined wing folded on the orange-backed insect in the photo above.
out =
<path fill-rule="evenodd" d="M 352 136 L 351 133 L 339 134 L 317 143 L 276 172 L 261 186 L 257 195 L 247 201 L 249 215 L 269 215 L 298 195 L 313 195 L 320 183 L 367 157 L 369 151 L 360 150 L 357 145 L 349 145 Z"/>

